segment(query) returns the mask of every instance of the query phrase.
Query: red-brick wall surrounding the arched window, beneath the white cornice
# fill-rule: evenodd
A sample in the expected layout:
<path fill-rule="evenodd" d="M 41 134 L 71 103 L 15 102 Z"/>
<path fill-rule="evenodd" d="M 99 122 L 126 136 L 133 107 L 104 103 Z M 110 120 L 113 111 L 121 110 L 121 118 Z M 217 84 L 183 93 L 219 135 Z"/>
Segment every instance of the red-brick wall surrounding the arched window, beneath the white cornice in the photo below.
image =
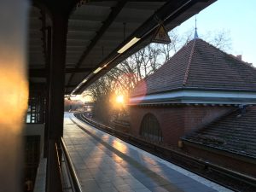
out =
<path fill-rule="evenodd" d="M 167 106 L 167 107 L 131 107 L 131 134 L 139 136 L 143 117 L 152 113 L 158 119 L 166 144 L 177 147 L 179 137 L 211 122 L 227 113 L 231 107 L 220 106 Z"/>

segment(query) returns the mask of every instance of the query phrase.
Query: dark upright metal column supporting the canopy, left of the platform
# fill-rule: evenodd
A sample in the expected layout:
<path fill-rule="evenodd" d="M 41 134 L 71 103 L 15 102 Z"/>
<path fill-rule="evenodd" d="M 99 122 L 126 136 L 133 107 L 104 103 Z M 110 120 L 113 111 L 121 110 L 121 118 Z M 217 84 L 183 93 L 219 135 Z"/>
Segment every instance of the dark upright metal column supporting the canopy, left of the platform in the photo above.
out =
<path fill-rule="evenodd" d="M 55 11 L 52 15 L 52 57 L 49 74 L 49 132 L 47 191 L 62 191 L 61 172 L 55 143 L 63 135 L 65 59 L 67 43 L 67 15 Z"/>

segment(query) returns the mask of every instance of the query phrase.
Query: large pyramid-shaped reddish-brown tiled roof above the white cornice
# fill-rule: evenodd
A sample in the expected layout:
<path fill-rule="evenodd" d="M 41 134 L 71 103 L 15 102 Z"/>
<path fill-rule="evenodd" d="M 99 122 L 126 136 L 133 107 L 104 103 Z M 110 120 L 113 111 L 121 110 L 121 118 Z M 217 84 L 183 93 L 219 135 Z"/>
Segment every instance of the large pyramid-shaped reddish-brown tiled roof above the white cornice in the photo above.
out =
<path fill-rule="evenodd" d="M 195 38 L 145 82 L 131 96 L 175 89 L 256 90 L 256 69 Z"/>

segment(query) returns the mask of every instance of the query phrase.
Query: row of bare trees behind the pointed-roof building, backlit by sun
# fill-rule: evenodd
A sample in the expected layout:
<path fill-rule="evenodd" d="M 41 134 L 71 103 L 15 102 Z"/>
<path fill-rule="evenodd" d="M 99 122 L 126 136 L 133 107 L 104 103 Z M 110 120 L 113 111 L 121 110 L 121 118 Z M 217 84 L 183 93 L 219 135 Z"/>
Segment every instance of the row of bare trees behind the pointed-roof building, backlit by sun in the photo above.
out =
<path fill-rule="evenodd" d="M 154 73 L 163 63 L 170 60 L 178 49 L 188 44 L 193 38 L 193 33 L 194 30 L 189 30 L 180 36 L 177 30 L 172 30 L 168 33 L 172 39 L 171 44 L 149 44 L 119 63 L 95 84 L 91 84 L 88 90 L 96 102 L 95 112 L 99 119 L 108 121 L 111 115 L 109 100 L 113 94 L 128 95 L 139 81 Z M 231 40 L 227 31 L 215 32 L 213 35 L 208 32 L 204 39 L 218 49 L 230 49 Z"/>

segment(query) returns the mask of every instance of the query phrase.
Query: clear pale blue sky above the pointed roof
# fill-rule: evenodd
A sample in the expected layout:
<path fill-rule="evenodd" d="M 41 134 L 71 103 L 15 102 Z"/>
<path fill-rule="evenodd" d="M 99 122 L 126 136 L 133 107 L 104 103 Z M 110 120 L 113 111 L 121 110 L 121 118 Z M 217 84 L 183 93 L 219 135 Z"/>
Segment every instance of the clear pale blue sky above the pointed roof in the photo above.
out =
<path fill-rule="evenodd" d="M 226 52 L 242 55 L 242 60 L 256 67 L 256 1 L 218 0 L 197 17 L 197 32 L 202 38 L 207 32 L 227 31 L 231 49 Z M 177 27 L 179 32 L 195 28 L 195 17 Z M 202 38 L 203 39 L 203 38 Z"/>

